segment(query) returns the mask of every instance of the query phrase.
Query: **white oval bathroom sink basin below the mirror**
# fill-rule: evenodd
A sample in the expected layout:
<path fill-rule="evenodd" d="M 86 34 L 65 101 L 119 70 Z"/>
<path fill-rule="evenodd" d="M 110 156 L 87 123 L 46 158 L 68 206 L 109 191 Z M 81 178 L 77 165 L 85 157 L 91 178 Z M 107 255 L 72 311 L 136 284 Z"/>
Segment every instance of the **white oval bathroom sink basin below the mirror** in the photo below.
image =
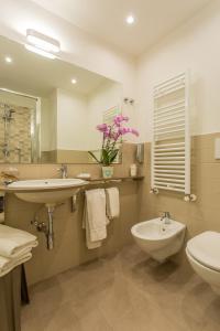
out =
<path fill-rule="evenodd" d="M 80 179 L 45 179 L 16 181 L 8 185 L 9 192 L 24 201 L 56 204 L 73 196 L 78 188 L 88 184 Z"/>

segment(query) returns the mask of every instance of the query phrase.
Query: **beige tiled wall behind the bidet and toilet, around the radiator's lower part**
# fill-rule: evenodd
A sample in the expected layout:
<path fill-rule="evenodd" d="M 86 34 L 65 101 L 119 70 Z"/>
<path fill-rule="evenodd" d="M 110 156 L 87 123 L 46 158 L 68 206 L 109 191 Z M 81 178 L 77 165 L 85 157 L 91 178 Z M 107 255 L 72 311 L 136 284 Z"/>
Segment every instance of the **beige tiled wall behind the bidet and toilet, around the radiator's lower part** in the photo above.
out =
<path fill-rule="evenodd" d="M 145 143 L 145 179 L 139 189 L 139 220 L 158 216 L 168 211 L 173 218 L 187 225 L 187 237 L 202 231 L 220 232 L 220 160 L 215 159 L 215 138 L 220 134 L 196 136 L 191 139 L 191 193 L 196 202 L 186 203 L 183 195 L 162 192 L 150 194 L 151 143 Z M 178 259 L 178 256 L 177 256 Z"/>

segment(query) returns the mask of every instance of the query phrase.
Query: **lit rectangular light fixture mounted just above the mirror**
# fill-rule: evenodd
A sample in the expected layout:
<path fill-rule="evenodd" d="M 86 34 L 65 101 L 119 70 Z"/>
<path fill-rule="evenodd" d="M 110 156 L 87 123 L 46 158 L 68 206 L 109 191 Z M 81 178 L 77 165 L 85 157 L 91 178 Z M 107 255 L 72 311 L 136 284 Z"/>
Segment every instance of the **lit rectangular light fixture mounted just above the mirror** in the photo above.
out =
<path fill-rule="evenodd" d="M 42 34 L 33 29 L 26 30 L 26 40 L 29 43 L 45 52 L 58 53 L 61 44 L 57 40 Z"/>

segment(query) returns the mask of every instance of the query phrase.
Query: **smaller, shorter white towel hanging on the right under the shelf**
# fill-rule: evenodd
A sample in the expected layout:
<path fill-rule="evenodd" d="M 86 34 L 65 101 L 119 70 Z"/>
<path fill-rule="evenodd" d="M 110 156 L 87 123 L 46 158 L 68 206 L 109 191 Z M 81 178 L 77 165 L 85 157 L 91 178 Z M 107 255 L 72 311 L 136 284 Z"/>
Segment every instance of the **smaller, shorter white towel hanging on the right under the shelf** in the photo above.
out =
<path fill-rule="evenodd" d="M 119 189 L 108 188 L 106 189 L 107 196 L 107 216 L 109 220 L 119 217 L 120 214 L 120 202 L 119 202 Z"/>

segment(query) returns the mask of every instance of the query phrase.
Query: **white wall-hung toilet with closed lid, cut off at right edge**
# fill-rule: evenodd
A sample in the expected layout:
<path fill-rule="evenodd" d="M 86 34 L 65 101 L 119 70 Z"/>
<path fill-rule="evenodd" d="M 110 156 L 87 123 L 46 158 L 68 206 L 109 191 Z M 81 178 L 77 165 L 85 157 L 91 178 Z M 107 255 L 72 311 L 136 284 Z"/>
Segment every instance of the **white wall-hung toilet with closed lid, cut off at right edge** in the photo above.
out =
<path fill-rule="evenodd" d="M 187 243 L 193 269 L 220 295 L 220 233 L 207 231 Z"/>

